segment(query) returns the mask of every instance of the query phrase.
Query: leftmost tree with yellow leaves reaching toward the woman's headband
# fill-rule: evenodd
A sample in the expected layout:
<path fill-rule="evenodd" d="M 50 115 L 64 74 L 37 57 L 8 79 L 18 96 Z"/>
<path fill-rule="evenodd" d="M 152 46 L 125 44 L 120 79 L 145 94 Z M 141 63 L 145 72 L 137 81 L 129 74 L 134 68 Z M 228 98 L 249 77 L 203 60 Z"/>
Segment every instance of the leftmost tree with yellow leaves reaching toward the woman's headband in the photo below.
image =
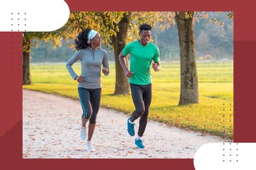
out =
<path fill-rule="evenodd" d="M 68 22 L 57 31 L 23 33 L 23 84 L 31 84 L 31 75 L 29 69 L 31 46 L 38 46 L 40 44 L 40 40 L 52 44 L 53 48 L 56 46 L 61 46 L 62 39 L 69 42 L 70 39 L 73 39 L 76 34 L 85 27 L 85 22 L 83 22 L 81 18 L 85 20 L 87 20 L 87 18 L 91 18 L 91 20 L 87 20 L 86 23 L 89 26 L 93 26 L 96 22 L 98 22 L 98 20 L 94 18 L 94 12 L 87 12 L 86 16 L 79 14 L 79 12 L 73 12 L 70 14 Z"/>

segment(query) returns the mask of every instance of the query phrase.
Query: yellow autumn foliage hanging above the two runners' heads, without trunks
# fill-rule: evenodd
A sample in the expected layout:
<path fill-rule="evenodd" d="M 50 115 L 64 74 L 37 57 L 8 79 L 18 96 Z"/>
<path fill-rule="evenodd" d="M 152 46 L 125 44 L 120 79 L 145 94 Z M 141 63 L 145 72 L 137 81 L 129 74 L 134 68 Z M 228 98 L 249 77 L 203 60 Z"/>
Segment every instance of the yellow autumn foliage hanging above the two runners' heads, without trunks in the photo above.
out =
<path fill-rule="evenodd" d="M 70 12 L 68 22 L 59 30 L 49 33 L 31 33 L 29 36 L 61 46 L 61 39 L 75 39 L 82 29 L 91 27 L 100 32 L 102 41 L 109 45 L 110 37 L 119 31 L 118 23 L 128 12 Z M 175 12 L 132 12 L 126 41 L 134 41 L 139 37 L 139 25 L 143 23 L 169 29 L 174 25 Z"/>

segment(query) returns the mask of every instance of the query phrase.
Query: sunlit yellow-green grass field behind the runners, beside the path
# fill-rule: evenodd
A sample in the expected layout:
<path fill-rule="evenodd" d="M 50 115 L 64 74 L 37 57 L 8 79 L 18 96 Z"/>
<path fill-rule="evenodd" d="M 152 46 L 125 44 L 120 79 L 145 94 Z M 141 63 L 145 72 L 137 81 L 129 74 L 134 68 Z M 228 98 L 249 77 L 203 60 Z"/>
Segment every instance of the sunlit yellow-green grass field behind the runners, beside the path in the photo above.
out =
<path fill-rule="evenodd" d="M 79 63 L 73 68 L 80 73 Z M 113 95 L 114 63 L 110 63 L 110 71 L 109 76 L 102 75 L 101 106 L 131 114 L 131 95 Z M 180 64 L 162 63 L 161 71 L 152 70 L 150 120 L 233 139 L 233 62 L 197 63 L 197 71 L 199 104 L 179 107 Z M 23 88 L 78 100 L 77 82 L 72 80 L 65 64 L 31 65 L 31 80 L 33 84 Z"/>

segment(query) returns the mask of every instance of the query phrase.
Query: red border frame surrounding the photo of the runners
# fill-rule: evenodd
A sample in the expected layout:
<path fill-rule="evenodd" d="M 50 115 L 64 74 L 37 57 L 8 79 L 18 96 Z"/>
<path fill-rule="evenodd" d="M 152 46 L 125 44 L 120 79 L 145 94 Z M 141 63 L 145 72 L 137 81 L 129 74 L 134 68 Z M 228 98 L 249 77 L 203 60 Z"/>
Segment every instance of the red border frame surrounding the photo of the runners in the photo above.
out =
<path fill-rule="evenodd" d="M 233 11 L 234 19 L 234 141 L 256 142 L 255 97 L 256 23 L 252 1 L 91 1 L 66 0 L 70 11 Z M 205 3 L 206 2 L 206 3 Z M 22 153 L 22 33 L 0 33 L 1 167 L 8 169 L 195 169 L 193 159 L 23 159 Z M 13 35 L 13 37 L 12 37 Z M 14 40 L 14 41 L 12 41 Z M 18 41 L 20 41 L 18 43 Z M 13 48 L 12 48 L 13 47 Z M 19 47 L 19 48 L 18 48 Z M 12 52 L 14 54 L 12 54 Z M 20 54 L 18 54 L 20 52 Z M 11 59 L 12 58 L 12 59 Z M 17 58 L 20 58 L 19 60 Z"/>

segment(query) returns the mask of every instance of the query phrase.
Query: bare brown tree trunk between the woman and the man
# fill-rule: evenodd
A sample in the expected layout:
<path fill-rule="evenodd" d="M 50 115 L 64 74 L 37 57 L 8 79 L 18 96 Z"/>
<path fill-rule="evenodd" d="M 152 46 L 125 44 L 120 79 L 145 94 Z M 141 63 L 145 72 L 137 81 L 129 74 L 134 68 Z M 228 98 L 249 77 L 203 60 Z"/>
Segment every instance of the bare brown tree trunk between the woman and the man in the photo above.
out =
<path fill-rule="evenodd" d="M 126 35 L 131 20 L 131 12 L 124 14 L 124 17 L 120 20 L 118 27 L 119 32 L 116 36 L 111 37 L 113 47 L 115 51 L 115 91 L 114 95 L 125 95 L 130 92 L 130 84 L 128 78 L 124 73 L 124 69 L 119 63 L 119 54 L 126 46 Z M 128 67 L 127 57 L 125 59 Z"/>

